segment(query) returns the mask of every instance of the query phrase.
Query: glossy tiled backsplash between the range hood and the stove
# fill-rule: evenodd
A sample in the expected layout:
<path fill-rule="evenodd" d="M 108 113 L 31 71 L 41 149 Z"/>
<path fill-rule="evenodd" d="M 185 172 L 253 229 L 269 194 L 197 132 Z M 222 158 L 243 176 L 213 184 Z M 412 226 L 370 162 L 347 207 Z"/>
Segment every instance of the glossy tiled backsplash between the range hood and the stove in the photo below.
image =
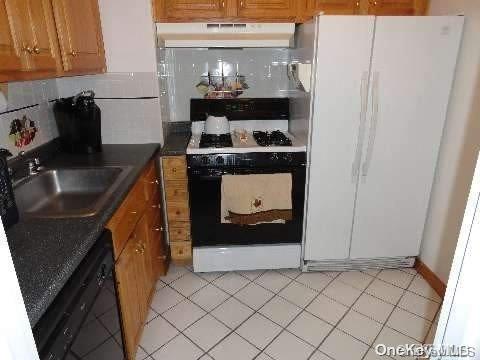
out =
<path fill-rule="evenodd" d="M 244 75 L 241 97 L 288 97 L 288 49 L 167 49 L 159 54 L 160 88 L 169 96 L 169 120 L 190 120 L 190 99 L 202 98 L 195 86 L 213 75 Z M 168 86 L 165 86 L 168 83 Z"/>

